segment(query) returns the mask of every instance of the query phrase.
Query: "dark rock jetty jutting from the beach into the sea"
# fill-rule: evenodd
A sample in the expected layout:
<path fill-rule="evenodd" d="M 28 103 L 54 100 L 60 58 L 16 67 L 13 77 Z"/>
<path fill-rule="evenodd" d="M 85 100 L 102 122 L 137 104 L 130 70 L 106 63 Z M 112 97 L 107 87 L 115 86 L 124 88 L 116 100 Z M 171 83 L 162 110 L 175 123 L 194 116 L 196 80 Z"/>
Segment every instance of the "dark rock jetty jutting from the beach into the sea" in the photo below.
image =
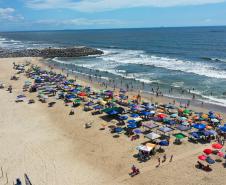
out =
<path fill-rule="evenodd" d="M 44 49 L 23 49 L 0 51 L 0 58 L 10 57 L 81 57 L 88 55 L 101 55 L 103 51 L 88 47 L 70 47 L 70 48 L 44 48 Z"/>

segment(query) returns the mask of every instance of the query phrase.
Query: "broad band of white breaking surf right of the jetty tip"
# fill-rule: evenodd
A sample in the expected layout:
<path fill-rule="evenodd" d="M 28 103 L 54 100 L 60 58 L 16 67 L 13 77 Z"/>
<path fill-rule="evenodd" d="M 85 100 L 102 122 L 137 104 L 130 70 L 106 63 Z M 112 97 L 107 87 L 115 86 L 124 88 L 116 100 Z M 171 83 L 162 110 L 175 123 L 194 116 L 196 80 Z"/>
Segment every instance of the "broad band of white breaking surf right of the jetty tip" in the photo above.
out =
<path fill-rule="evenodd" d="M 114 63 L 115 67 L 119 65 L 140 64 L 165 68 L 173 71 L 193 73 L 210 78 L 226 79 L 226 71 L 221 70 L 220 67 L 214 64 L 158 57 L 148 55 L 141 50 L 104 49 L 103 51 L 105 55 L 100 56 L 99 58 L 104 60 L 110 66 L 112 66 L 112 63 Z"/>

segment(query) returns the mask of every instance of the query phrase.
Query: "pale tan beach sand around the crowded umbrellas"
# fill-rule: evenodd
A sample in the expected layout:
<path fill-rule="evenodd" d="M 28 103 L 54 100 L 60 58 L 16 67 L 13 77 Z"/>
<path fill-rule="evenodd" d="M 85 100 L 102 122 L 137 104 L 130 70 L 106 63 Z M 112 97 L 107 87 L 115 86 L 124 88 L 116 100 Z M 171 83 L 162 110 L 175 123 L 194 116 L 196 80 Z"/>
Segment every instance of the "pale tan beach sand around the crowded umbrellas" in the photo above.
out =
<path fill-rule="evenodd" d="M 106 122 L 99 116 L 84 112 L 82 107 L 76 108 L 75 115 L 69 116 L 70 108 L 65 107 L 62 101 L 55 100 L 54 107 L 49 108 L 37 101 L 37 94 L 27 92 L 25 95 L 35 99 L 35 104 L 16 103 L 16 96 L 20 94 L 26 78 L 20 74 L 18 81 L 10 80 L 15 72 L 12 63 L 24 63 L 26 60 L 47 67 L 39 58 L 0 59 L 0 81 L 13 86 L 11 94 L 0 89 L 0 166 L 4 172 L 0 185 L 5 184 L 6 173 L 8 184 L 18 177 L 23 180 L 24 173 L 35 185 L 225 183 L 226 169 L 222 163 L 214 164 L 210 173 L 195 168 L 197 156 L 210 144 L 184 142 L 180 146 L 171 145 L 166 154 L 174 155 L 173 162 L 167 161 L 156 168 L 157 158 L 163 154 L 155 155 L 146 163 L 139 163 L 133 157 L 137 153 L 136 146 L 147 140 L 141 138 L 131 142 L 124 135 L 113 138 L 107 128 L 100 130 L 101 124 Z M 84 129 L 87 122 L 93 122 L 93 127 Z M 128 175 L 132 164 L 141 171 L 133 178 Z"/>

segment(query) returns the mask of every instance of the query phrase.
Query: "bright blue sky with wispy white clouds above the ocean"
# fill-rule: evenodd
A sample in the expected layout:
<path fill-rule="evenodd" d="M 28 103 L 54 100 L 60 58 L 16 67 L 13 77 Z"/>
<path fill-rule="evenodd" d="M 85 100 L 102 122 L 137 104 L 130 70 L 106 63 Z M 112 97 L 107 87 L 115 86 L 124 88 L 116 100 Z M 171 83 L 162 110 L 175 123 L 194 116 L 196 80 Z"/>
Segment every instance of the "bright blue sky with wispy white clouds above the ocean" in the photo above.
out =
<path fill-rule="evenodd" d="M 226 0 L 0 0 L 0 31 L 226 25 Z"/>

